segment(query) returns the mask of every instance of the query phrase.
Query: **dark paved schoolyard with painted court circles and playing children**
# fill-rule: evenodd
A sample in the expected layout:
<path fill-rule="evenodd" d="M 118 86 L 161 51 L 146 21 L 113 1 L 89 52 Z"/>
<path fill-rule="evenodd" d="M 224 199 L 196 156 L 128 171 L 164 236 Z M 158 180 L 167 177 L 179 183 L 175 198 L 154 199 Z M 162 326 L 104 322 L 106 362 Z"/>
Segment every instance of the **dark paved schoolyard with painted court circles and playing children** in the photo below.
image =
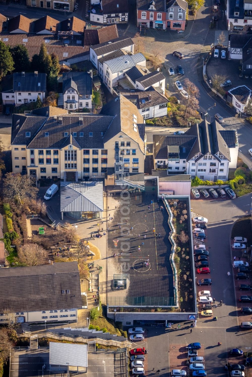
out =
<path fill-rule="evenodd" d="M 168 213 L 157 201 L 156 187 L 143 193 L 125 190 L 108 204 L 113 213 L 107 232 L 108 304 L 174 305 Z"/>

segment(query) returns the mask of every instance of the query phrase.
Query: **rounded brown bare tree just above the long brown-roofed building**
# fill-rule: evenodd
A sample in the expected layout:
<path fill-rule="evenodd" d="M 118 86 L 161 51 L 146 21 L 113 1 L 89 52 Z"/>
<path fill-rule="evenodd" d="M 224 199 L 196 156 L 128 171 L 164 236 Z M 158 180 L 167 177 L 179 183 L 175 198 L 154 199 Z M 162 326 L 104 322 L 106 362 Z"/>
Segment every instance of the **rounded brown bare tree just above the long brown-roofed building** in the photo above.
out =
<path fill-rule="evenodd" d="M 26 266 L 46 264 L 48 257 L 46 250 L 42 246 L 33 243 L 22 245 L 17 256 L 19 261 Z"/>

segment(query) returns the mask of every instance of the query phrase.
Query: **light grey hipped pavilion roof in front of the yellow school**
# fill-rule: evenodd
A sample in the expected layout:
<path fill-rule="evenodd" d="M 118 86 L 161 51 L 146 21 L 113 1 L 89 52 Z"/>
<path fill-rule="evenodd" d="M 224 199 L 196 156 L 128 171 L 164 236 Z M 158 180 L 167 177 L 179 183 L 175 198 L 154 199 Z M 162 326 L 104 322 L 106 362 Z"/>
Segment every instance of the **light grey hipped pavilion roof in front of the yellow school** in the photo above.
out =
<path fill-rule="evenodd" d="M 60 211 L 103 211 L 103 183 L 60 182 Z"/>

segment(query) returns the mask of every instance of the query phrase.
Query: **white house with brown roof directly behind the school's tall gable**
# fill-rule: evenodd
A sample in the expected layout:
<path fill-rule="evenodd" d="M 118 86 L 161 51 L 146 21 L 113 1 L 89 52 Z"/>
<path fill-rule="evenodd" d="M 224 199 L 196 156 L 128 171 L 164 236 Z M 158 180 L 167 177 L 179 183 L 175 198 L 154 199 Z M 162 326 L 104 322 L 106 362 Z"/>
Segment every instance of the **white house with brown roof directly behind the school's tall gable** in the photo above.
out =
<path fill-rule="evenodd" d="M 122 91 L 120 94 L 135 104 L 144 119 L 167 115 L 168 100 L 163 94 L 157 92 L 154 87 L 150 87 L 146 91 Z"/>

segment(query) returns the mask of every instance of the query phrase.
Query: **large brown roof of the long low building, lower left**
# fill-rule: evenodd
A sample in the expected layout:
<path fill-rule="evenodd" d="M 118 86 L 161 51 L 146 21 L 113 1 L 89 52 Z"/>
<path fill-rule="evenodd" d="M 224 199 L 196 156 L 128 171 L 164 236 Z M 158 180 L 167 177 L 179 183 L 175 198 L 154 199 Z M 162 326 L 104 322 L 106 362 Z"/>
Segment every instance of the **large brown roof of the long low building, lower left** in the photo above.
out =
<path fill-rule="evenodd" d="M 77 262 L 0 268 L 0 284 L 1 313 L 82 308 Z"/>

